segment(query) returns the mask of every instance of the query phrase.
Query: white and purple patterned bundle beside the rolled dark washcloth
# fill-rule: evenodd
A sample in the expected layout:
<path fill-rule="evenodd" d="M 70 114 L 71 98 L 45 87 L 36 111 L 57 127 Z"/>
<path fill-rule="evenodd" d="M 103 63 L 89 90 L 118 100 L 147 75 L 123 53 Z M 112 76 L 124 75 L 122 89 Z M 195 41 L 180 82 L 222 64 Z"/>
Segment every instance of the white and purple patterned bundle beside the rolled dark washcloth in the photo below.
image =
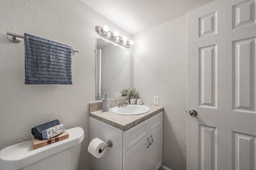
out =
<path fill-rule="evenodd" d="M 62 134 L 64 131 L 65 131 L 65 127 L 63 124 L 45 129 L 44 131 L 42 131 L 43 140 L 52 139 L 53 137 L 56 137 Z"/>

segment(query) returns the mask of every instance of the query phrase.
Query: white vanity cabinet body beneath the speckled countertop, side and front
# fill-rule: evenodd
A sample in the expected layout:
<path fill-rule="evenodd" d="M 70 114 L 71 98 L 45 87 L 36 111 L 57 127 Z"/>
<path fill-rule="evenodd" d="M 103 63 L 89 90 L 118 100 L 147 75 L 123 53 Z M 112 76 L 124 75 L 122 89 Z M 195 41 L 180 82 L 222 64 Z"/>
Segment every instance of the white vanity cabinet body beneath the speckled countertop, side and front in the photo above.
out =
<path fill-rule="evenodd" d="M 90 154 L 93 170 L 159 170 L 163 153 L 163 111 L 122 131 L 108 123 L 89 117 L 90 141 L 98 137 L 113 146 L 101 158 Z"/>

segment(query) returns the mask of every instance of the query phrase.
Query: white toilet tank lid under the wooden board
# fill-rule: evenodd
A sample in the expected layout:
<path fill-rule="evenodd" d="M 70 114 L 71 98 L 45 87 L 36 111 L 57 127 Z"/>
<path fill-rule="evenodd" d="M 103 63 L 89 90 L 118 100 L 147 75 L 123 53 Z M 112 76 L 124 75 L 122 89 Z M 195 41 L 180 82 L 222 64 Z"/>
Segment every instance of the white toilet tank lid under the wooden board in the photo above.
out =
<path fill-rule="evenodd" d="M 81 127 L 74 127 L 66 130 L 69 134 L 68 139 L 34 149 L 32 140 L 11 145 L 0 150 L 0 170 L 16 170 L 23 168 L 80 144 L 84 139 L 84 130 Z"/>

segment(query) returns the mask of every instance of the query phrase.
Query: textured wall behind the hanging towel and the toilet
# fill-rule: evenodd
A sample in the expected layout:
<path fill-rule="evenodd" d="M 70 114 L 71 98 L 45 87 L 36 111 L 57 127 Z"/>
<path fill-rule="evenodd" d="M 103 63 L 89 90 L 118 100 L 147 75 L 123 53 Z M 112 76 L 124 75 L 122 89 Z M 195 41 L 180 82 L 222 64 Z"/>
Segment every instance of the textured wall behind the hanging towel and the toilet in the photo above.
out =
<path fill-rule="evenodd" d="M 31 128 L 59 119 L 66 129 L 82 127 L 80 170 L 89 169 L 89 102 L 95 102 L 96 25 L 132 35 L 79 0 L 1 0 L 0 150 L 31 139 Z M 24 40 L 12 43 L 6 31 L 30 33 L 80 51 L 73 58 L 72 85 L 25 85 Z"/>

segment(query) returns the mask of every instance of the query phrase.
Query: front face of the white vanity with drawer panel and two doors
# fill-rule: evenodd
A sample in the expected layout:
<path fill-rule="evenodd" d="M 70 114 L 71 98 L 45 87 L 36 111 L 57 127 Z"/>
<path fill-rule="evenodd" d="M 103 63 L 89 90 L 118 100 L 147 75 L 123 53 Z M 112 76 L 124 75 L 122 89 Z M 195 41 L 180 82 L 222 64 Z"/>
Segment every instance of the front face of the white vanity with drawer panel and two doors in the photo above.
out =
<path fill-rule="evenodd" d="M 123 170 L 159 170 L 162 165 L 163 113 L 123 132 Z"/>

